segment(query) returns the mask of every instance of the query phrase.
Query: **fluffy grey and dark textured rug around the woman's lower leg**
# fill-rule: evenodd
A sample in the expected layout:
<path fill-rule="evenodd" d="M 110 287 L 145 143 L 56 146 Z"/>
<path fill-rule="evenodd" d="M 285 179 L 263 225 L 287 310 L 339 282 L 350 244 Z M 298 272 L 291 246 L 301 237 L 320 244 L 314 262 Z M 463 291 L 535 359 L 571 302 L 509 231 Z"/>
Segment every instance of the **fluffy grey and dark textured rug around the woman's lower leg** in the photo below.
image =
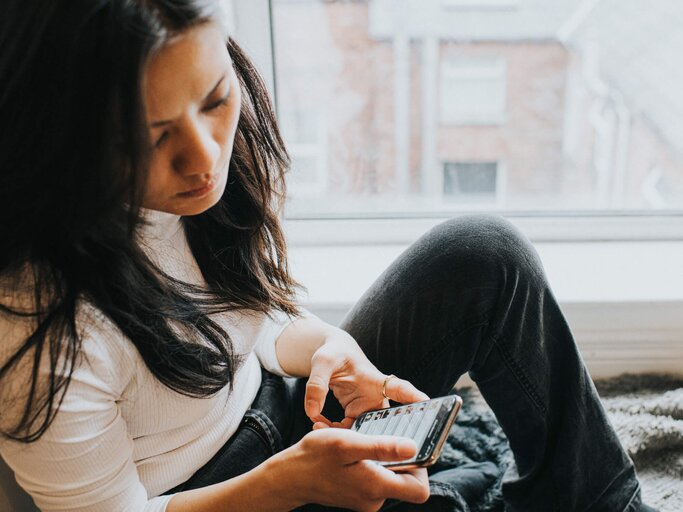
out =
<path fill-rule="evenodd" d="M 644 502 L 660 512 L 683 512 L 683 376 L 623 375 L 598 381 L 596 387 L 636 465 Z M 457 392 L 464 407 L 430 480 L 436 496 L 443 493 L 440 480 L 469 481 L 463 486 L 468 495 L 456 492 L 453 499 L 451 489 L 450 499 L 435 496 L 434 509 L 502 512 L 500 486 L 512 462 L 507 440 L 476 388 Z"/>

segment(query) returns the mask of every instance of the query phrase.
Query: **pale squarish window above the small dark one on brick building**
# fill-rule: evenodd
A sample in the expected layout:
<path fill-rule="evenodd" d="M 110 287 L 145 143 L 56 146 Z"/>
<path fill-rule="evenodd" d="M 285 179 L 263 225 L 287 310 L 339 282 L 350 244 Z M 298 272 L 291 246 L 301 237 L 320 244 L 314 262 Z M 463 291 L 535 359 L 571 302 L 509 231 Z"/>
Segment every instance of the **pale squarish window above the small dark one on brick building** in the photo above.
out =
<path fill-rule="evenodd" d="M 501 124 L 506 70 L 500 57 L 446 58 L 441 63 L 442 124 Z"/>

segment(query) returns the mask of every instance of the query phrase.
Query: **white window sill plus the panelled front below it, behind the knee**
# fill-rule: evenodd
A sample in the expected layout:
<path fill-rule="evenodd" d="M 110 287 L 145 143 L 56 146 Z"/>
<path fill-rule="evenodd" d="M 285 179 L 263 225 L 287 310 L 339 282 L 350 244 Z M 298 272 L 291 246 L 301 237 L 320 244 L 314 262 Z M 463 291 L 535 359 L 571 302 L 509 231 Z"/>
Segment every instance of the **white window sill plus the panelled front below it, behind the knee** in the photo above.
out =
<path fill-rule="evenodd" d="M 304 303 L 338 324 L 407 247 L 294 245 Z M 549 282 L 593 376 L 683 373 L 683 241 L 537 242 Z"/>

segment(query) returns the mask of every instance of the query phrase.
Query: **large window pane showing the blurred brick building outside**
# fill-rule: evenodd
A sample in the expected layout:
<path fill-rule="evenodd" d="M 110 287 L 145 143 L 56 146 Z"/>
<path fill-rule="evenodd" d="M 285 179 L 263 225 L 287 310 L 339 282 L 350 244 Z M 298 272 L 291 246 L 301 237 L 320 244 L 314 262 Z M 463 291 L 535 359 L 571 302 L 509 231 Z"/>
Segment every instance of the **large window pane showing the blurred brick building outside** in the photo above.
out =
<path fill-rule="evenodd" d="M 273 0 L 288 217 L 683 208 L 683 3 Z"/>

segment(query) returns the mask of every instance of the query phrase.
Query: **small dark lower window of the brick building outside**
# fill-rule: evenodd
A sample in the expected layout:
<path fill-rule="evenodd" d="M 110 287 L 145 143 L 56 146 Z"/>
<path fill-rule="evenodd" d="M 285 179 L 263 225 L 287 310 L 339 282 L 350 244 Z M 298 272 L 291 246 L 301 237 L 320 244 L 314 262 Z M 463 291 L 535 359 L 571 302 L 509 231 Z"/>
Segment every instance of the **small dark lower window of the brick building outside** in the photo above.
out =
<path fill-rule="evenodd" d="M 445 162 L 444 199 L 495 203 L 500 195 L 498 169 L 498 162 Z"/>

